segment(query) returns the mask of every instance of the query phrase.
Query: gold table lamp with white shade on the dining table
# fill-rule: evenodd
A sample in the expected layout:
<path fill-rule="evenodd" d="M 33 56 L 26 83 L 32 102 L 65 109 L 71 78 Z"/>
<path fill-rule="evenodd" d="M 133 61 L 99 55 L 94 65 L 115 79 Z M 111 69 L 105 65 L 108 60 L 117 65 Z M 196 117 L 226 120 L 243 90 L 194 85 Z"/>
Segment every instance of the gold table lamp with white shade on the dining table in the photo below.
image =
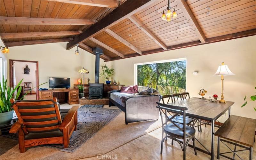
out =
<path fill-rule="evenodd" d="M 226 103 L 223 96 L 223 80 L 224 80 L 223 76 L 229 76 L 229 75 L 235 75 L 235 74 L 230 71 L 227 65 L 224 65 L 224 62 L 222 62 L 221 66 L 218 67 L 216 73 L 214 74 L 214 76 L 221 76 L 222 92 L 221 92 L 221 100 L 219 101 L 220 103 Z"/>

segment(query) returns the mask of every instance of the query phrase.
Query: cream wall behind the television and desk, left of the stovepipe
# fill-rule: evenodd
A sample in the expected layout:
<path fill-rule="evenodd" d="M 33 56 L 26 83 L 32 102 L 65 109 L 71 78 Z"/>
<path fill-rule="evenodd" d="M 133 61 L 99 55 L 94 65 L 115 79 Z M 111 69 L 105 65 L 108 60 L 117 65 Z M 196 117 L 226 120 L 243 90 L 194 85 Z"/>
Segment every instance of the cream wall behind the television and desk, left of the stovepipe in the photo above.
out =
<path fill-rule="evenodd" d="M 80 48 L 80 55 L 75 55 L 76 48 L 66 50 L 66 42 L 51 44 L 36 44 L 26 46 L 9 47 L 10 53 L 6 58 L 13 60 L 38 61 L 39 84 L 49 81 L 49 77 L 70 77 L 70 85 L 77 84 L 77 79 L 83 75 L 78 70 L 86 68 L 90 74 L 85 75 L 85 82 L 90 77 L 94 82 L 95 56 Z M 102 63 L 103 60 L 100 60 Z M 9 74 L 9 65 L 8 65 Z M 9 81 L 9 75 L 8 81 Z M 49 88 L 49 84 L 41 85 L 39 88 Z"/>

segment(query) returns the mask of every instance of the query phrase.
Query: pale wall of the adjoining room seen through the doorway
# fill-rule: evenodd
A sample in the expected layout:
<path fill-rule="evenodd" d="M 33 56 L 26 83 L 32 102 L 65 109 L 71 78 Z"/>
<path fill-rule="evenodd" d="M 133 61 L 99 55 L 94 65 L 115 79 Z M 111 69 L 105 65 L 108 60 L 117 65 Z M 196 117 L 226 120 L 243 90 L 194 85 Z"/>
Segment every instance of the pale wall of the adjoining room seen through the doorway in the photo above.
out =
<path fill-rule="evenodd" d="M 24 74 L 24 68 L 28 65 L 29 68 L 29 75 Z M 31 82 L 31 88 L 36 87 L 36 63 L 32 62 L 19 62 L 14 61 L 14 68 L 15 68 L 15 77 L 16 77 L 16 84 L 23 79 L 21 86 L 24 86 L 24 82 Z M 32 90 L 32 93 L 36 92 L 36 88 Z"/>

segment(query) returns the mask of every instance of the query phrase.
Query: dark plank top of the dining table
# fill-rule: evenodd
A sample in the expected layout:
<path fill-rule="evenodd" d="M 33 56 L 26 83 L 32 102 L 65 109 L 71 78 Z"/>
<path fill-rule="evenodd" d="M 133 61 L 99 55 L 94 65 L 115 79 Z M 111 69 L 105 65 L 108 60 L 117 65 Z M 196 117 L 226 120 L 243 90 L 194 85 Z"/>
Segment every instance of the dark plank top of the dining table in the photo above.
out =
<path fill-rule="evenodd" d="M 209 99 L 202 100 L 197 97 L 168 103 L 172 106 L 186 107 L 186 116 L 200 118 L 203 120 L 216 120 L 225 113 L 234 102 L 226 101 L 226 103 L 211 102 Z"/>

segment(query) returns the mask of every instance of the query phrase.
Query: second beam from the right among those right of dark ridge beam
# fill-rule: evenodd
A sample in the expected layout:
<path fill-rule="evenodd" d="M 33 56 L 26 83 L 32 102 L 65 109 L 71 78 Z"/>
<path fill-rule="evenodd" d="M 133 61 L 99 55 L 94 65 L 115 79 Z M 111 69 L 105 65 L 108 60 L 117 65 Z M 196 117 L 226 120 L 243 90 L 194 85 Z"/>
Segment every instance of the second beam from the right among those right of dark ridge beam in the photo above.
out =
<path fill-rule="evenodd" d="M 137 19 L 134 15 L 129 17 L 137 27 L 139 27 L 146 35 L 148 35 L 151 39 L 153 39 L 160 47 L 164 50 L 167 50 L 167 46 L 162 42 L 153 32 L 151 32 L 139 19 Z"/>

